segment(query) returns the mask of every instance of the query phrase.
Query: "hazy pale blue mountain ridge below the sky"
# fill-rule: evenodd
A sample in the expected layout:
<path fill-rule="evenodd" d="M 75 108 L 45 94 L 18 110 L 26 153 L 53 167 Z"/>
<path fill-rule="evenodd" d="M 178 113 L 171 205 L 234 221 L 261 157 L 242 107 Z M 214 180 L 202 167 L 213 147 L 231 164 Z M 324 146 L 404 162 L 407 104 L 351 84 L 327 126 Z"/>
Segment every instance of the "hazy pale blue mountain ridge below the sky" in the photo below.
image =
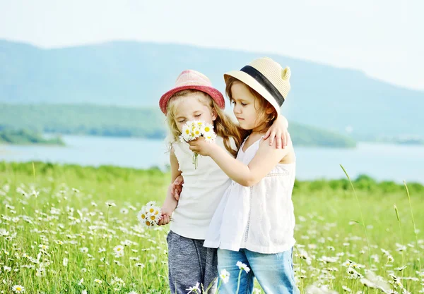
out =
<path fill-rule="evenodd" d="M 355 138 L 424 137 L 424 92 L 285 56 L 178 44 L 109 42 L 40 49 L 0 40 L 0 102 L 157 107 L 160 94 L 184 69 L 205 73 L 223 90 L 225 71 L 265 55 L 292 70 L 292 91 L 283 106 L 290 121 L 338 133 L 351 130 Z M 402 73 L 393 68 L 393 74 Z"/>

